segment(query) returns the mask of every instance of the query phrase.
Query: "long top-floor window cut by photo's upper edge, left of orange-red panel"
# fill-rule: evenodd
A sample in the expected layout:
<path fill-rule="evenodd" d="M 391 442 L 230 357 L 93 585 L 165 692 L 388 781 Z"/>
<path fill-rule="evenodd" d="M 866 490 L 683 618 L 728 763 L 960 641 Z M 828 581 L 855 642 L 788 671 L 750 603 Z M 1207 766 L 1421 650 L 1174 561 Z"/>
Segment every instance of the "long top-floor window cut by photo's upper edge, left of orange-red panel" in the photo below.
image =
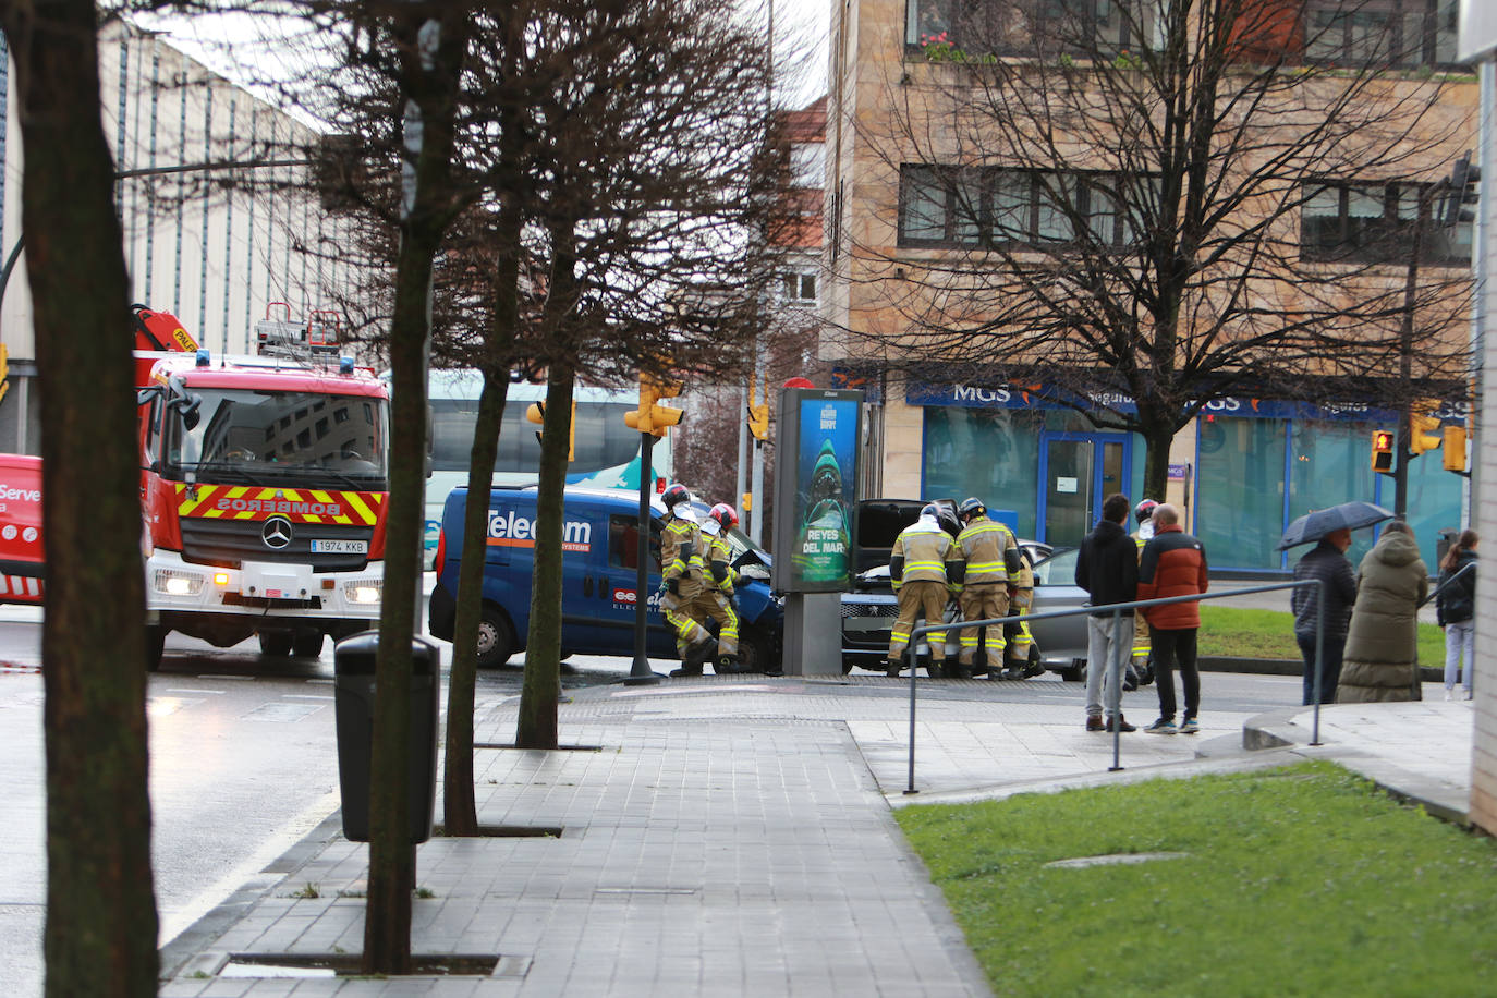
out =
<path fill-rule="evenodd" d="M 1160 34 L 1166 0 L 906 0 L 904 43 L 967 52 L 1141 48 Z"/>

